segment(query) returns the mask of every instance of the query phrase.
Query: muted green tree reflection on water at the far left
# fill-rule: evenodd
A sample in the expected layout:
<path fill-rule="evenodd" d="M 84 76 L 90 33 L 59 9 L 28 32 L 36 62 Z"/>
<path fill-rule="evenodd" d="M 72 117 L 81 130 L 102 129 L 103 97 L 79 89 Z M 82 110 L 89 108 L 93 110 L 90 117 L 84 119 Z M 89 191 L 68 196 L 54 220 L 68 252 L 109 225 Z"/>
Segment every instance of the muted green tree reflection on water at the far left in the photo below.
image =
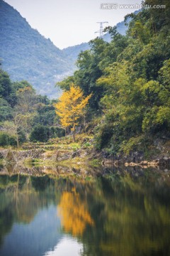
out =
<path fill-rule="evenodd" d="M 0 246 L 13 223 L 30 223 L 38 210 L 55 201 L 55 183 L 46 176 L 0 176 Z M 42 185 L 42 187 L 41 187 Z"/>

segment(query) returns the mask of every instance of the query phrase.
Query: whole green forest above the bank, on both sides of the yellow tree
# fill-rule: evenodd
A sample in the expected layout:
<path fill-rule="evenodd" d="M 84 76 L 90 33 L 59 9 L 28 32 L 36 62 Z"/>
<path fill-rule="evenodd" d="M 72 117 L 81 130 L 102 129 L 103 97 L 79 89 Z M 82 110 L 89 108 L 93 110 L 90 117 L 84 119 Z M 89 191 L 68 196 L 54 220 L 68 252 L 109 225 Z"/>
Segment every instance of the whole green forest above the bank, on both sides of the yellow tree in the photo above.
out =
<path fill-rule="evenodd" d="M 147 0 L 145 4 L 159 4 Z M 155 138 L 170 138 L 170 3 L 125 16 L 125 36 L 107 27 L 111 42 L 96 38 L 79 54 L 74 75 L 57 82 L 63 93 L 72 86 L 88 101 L 76 122 L 62 125 L 56 100 L 36 95 L 26 81 L 11 82 L 0 71 L 0 145 L 47 142 L 66 134 L 94 135 L 96 151 L 110 155 L 148 151 Z M 82 95 L 81 95 L 82 96 Z M 80 104 L 81 101 L 79 101 Z M 72 102 L 70 103 L 72 105 Z M 77 112 L 77 108 L 74 109 Z M 78 129 L 79 128 L 79 129 Z M 74 130 L 74 132 L 73 132 Z"/>

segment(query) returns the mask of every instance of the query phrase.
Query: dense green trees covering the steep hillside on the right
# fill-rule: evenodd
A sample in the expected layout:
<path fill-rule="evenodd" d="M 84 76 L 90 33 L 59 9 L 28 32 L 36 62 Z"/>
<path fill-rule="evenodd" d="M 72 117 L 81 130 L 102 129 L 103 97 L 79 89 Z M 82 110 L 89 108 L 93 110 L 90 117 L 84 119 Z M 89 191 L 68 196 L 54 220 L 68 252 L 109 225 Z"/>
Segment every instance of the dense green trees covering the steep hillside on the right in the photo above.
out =
<path fill-rule="evenodd" d="M 62 90 L 74 82 L 84 95 L 92 93 L 89 122 L 96 124 L 96 149 L 128 154 L 145 151 L 154 137 L 169 137 L 170 4 L 162 4 L 165 9 L 129 15 L 125 36 L 108 28 L 111 43 L 91 41 L 91 49 L 79 54 L 78 70 L 59 83 Z"/>

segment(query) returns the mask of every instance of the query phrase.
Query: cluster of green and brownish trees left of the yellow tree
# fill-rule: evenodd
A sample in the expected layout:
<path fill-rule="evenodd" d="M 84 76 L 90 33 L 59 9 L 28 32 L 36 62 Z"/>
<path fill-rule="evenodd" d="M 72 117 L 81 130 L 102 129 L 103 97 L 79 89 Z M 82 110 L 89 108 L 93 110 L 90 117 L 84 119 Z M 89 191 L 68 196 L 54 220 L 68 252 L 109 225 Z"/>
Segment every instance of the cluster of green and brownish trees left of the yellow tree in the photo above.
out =
<path fill-rule="evenodd" d="M 11 82 L 0 70 L 0 145 L 18 145 L 30 139 L 46 142 L 61 137 L 64 130 L 57 126 L 54 100 L 36 95 L 27 81 Z"/>

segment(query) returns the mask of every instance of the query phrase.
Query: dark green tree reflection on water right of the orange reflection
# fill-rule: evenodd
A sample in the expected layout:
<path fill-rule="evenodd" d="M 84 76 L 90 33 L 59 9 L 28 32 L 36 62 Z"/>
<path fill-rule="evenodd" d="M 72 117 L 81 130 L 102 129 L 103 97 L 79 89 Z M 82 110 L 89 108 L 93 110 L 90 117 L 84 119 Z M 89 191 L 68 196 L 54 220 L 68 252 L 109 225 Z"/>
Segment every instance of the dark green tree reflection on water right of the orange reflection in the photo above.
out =
<path fill-rule="evenodd" d="M 170 202 L 167 207 L 155 196 L 162 194 L 157 183 L 146 189 L 130 176 L 117 181 L 101 178 L 100 183 L 100 199 L 98 193 L 91 196 L 95 204 L 103 202 L 98 215 L 95 213 L 101 221 L 96 223 L 94 218 L 95 229 L 84 234 L 82 255 L 169 255 Z M 164 198 L 169 198 L 169 189 L 166 192 Z M 93 212 L 91 215 L 94 217 Z"/>

